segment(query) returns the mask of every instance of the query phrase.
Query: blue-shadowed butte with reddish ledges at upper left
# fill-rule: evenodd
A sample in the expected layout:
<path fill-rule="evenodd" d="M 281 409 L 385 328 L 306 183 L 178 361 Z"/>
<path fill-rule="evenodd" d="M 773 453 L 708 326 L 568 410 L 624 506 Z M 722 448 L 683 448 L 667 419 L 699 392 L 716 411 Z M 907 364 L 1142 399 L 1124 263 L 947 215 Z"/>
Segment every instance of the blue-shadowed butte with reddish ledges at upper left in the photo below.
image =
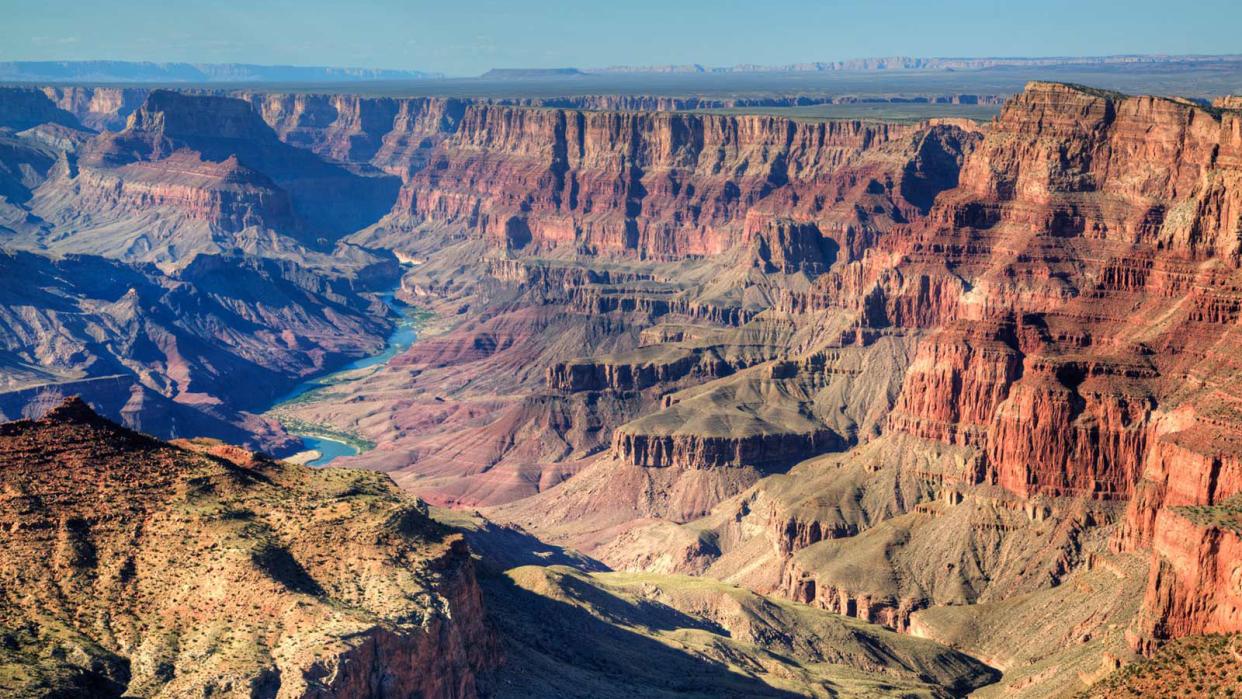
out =
<path fill-rule="evenodd" d="M 395 190 L 395 178 L 287 145 L 246 102 L 153 91 L 124 129 L 68 153 L 31 210 L 47 222 L 37 245 L 171 262 L 324 248 L 379 219 Z"/>

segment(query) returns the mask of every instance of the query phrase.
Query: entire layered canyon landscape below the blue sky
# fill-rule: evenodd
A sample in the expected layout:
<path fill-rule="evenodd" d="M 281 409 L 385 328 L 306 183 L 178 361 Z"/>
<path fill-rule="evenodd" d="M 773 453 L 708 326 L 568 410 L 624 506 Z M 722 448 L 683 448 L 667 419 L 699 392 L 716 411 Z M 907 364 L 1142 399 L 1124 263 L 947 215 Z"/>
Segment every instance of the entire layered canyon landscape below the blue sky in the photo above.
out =
<path fill-rule="evenodd" d="M 0 694 L 1242 694 L 1242 60 L 291 71 L 0 63 Z"/>

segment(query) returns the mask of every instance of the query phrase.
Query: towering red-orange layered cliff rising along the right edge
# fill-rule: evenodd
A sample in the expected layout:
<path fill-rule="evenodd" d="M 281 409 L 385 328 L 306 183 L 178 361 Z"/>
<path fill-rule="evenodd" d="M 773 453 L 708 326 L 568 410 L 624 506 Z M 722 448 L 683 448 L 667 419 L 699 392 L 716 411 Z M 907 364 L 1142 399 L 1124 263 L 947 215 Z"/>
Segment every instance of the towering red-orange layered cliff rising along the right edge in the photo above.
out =
<path fill-rule="evenodd" d="M 1130 500 L 1114 546 L 1153 548 L 1139 647 L 1242 628 L 1218 552 L 1233 535 L 1170 509 L 1238 490 L 1242 423 L 1223 386 L 1240 153 L 1237 113 L 1032 83 L 925 222 L 794 299 L 857 308 L 861 292 L 864 325 L 934 329 L 892 430 L 977 447 L 981 478 L 1022 497 Z"/>

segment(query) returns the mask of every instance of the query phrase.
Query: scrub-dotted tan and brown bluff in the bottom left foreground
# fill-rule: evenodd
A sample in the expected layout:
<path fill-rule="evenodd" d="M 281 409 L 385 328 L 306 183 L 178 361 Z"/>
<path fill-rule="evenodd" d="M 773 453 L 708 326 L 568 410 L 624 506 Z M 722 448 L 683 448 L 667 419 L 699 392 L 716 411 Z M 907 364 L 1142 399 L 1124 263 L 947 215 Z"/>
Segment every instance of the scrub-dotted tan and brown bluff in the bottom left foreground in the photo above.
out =
<path fill-rule="evenodd" d="M 386 478 L 68 401 L 0 426 L 0 479 L 11 695 L 456 698 L 496 662 L 463 541 Z"/>

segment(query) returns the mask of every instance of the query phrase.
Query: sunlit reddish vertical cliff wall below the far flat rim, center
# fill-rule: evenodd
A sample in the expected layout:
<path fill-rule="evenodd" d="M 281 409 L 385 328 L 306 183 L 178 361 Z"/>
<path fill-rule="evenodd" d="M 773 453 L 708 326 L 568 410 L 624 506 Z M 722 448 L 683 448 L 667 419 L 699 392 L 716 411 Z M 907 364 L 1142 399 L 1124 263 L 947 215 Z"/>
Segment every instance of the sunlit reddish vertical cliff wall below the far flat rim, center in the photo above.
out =
<path fill-rule="evenodd" d="M 719 255 L 746 237 L 748 217 L 814 221 L 825 236 L 862 227 L 852 207 L 833 206 L 899 186 L 892 163 L 917 138 L 889 124 L 472 104 L 431 166 L 410 174 L 397 211 L 474 227 L 509 250 Z M 807 255 L 800 235 L 760 230 L 750 237 L 768 263 Z"/>

